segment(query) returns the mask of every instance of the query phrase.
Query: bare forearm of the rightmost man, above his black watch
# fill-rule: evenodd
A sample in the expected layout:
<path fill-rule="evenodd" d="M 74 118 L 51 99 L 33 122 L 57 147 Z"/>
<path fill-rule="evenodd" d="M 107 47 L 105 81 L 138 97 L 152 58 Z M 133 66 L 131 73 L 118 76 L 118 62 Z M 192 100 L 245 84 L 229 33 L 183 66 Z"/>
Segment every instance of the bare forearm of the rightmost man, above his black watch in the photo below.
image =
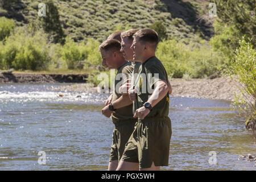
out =
<path fill-rule="evenodd" d="M 159 81 L 147 102 L 154 107 L 166 96 L 168 90 L 168 84 L 165 81 Z"/>

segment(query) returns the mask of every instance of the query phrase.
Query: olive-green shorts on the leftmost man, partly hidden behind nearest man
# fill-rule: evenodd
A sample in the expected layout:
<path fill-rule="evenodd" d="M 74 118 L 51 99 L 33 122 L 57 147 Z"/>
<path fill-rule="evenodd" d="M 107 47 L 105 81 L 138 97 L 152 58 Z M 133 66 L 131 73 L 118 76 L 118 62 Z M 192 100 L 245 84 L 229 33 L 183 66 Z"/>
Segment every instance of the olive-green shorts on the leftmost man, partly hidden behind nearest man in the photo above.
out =
<path fill-rule="evenodd" d="M 120 160 L 125 150 L 125 144 L 128 142 L 131 134 L 134 131 L 136 119 L 127 119 L 114 122 L 115 128 L 113 130 L 113 140 L 110 150 L 109 162 L 113 160 Z"/>

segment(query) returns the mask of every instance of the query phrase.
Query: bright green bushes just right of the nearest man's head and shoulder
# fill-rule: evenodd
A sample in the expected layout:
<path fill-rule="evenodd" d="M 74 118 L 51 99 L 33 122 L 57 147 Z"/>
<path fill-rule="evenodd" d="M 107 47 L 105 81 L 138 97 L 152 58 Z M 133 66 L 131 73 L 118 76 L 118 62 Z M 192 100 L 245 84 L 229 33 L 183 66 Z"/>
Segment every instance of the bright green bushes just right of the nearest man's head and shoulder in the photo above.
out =
<path fill-rule="evenodd" d="M 174 78 L 182 78 L 185 74 L 192 78 L 204 78 L 225 65 L 221 56 L 209 46 L 196 48 L 176 40 L 160 42 L 156 56 L 163 62 L 168 75 Z"/>

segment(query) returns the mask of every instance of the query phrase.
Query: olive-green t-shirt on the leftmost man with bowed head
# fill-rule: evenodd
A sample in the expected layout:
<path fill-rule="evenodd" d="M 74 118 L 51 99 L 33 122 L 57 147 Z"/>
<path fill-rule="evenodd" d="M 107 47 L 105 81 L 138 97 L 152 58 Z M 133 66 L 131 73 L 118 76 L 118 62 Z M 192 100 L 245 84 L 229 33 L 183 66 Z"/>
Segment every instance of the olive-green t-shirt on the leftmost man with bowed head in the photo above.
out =
<path fill-rule="evenodd" d="M 130 62 L 123 64 L 121 67 L 118 68 L 117 74 L 115 75 L 114 80 L 114 92 L 112 97 L 112 102 L 117 100 L 119 97 L 122 96 L 119 93 L 119 87 L 124 84 L 129 78 L 131 78 L 131 74 L 133 73 L 134 66 L 131 65 Z M 123 74 L 123 75 L 122 75 Z M 121 107 L 112 113 L 112 120 L 123 120 L 123 119 L 134 119 L 133 118 L 133 105 Z"/>

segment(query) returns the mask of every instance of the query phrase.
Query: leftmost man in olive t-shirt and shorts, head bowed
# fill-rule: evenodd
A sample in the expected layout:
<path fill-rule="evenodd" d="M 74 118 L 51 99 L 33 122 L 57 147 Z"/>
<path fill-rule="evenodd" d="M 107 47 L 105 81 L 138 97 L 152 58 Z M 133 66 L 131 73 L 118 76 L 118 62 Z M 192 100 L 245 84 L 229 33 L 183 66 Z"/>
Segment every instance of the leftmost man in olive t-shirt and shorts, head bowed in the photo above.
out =
<path fill-rule="evenodd" d="M 133 65 L 123 57 L 120 52 L 121 43 L 118 40 L 106 40 L 100 45 L 99 49 L 102 64 L 110 69 L 117 69 L 112 101 L 101 110 L 106 117 L 112 116 L 112 121 L 115 125 L 109 159 L 109 170 L 115 170 L 122 157 L 125 144 L 133 133 L 136 122 L 136 119 L 133 118 L 133 105 L 129 95 L 119 93 L 118 88 L 118 85 L 126 83 L 131 77 Z"/>

